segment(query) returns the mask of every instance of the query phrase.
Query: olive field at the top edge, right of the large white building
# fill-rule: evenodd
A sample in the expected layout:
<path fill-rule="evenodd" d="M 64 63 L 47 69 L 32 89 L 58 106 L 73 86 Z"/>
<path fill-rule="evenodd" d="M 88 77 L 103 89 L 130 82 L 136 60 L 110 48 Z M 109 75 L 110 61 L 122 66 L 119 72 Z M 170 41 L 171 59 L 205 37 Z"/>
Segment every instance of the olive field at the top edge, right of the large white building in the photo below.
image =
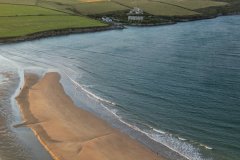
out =
<path fill-rule="evenodd" d="M 207 7 L 224 6 L 227 4 L 224 2 L 217 2 L 217 1 L 211 1 L 211 0 L 153 0 L 153 1 L 173 4 L 173 5 L 188 8 L 191 10 L 207 8 Z"/>

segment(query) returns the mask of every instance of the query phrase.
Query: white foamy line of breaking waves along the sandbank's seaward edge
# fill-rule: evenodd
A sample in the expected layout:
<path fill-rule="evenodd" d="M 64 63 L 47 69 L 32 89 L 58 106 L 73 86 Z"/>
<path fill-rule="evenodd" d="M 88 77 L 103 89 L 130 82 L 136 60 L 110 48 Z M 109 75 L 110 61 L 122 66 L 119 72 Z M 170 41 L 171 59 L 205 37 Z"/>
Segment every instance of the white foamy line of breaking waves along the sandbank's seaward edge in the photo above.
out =
<path fill-rule="evenodd" d="M 78 82 L 76 82 L 73 78 L 71 78 L 67 73 L 64 72 L 64 74 L 69 78 L 69 80 L 76 86 L 79 87 L 82 91 L 84 91 L 89 98 L 93 98 L 94 100 L 97 100 L 100 102 L 101 106 L 108 111 L 110 114 L 114 115 L 115 118 L 117 118 L 121 123 L 125 124 L 126 126 L 146 135 L 150 139 L 166 146 L 170 150 L 178 153 L 182 157 L 188 159 L 188 160 L 203 160 L 201 154 L 199 153 L 198 149 L 192 146 L 190 143 L 186 142 L 186 139 L 181 137 L 174 137 L 172 134 L 168 134 L 165 131 L 162 131 L 160 129 L 156 129 L 149 126 L 149 130 L 142 130 L 139 127 L 132 125 L 130 123 L 127 123 L 125 120 L 122 119 L 121 116 L 117 114 L 117 109 L 110 109 L 104 104 L 110 104 L 111 106 L 115 106 L 116 104 L 114 102 L 108 101 L 106 99 L 103 99 L 94 93 L 88 91 L 83 85 L 80 85 Z"/>

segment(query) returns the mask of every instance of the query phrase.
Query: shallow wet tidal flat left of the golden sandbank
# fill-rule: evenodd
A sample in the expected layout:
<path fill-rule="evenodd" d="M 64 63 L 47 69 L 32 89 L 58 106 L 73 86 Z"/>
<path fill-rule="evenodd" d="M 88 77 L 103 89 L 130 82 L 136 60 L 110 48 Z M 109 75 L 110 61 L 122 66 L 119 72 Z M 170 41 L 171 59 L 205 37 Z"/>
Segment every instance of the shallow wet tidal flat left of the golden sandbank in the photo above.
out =
<path fill-rule="evenodd" d="M 51 160 L 30 129 L 14 127 L 21 123 L 13 97 L 19 82 L 18 68 L 0 56 L 0 160 Z"/>

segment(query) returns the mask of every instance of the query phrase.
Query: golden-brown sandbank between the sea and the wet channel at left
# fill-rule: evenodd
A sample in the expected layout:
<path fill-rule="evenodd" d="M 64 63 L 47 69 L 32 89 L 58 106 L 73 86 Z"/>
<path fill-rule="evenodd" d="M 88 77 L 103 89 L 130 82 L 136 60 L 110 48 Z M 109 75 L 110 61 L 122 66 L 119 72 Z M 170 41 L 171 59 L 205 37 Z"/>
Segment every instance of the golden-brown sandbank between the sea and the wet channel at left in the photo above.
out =
<path fill-rule="evenodd" d="M 25 74 L 16 100 L 24 122 L 55 160 L 163 160 L 128 135 L 77 107 L 58 73 Z"/>

